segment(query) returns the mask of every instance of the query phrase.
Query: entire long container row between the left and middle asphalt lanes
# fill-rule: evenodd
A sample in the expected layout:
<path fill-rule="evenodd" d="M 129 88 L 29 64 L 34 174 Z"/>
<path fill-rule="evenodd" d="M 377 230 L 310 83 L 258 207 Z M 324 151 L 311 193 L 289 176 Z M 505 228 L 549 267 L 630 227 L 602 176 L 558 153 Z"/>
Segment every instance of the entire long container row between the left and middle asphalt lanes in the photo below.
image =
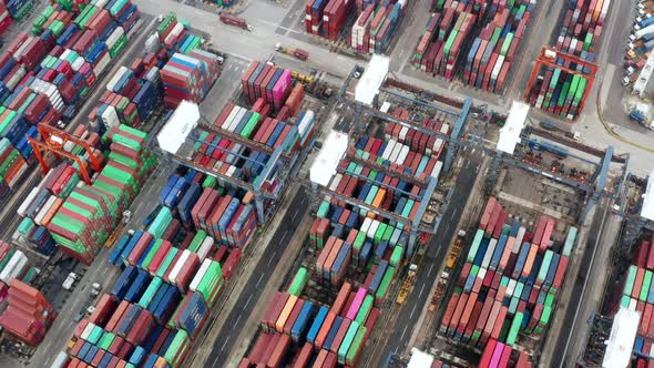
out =
<path fill-rule="evenodd" d="M 402 109 L 391 112 L 397 116 L 406 113 Z M 441 115 L 423 125 L 443 134 L 449 131 Z M 349 153 L 417 180 L 438 180 L 443 142 L 392 123 L 385 133 L 386 140 L 358 139 Z M 288 289 L 269 300 L 260 334 L 241 367 L 305 367 L 310 361 L 316 367 L 357 366 L 397 270 L 412 252 L 408 231 L 421 188 L 348 159 L 341 160 L 329 188 L 394 212 L 406 222 L 326 197 L 309 231 L 314 256 L 304 262 Z"/>

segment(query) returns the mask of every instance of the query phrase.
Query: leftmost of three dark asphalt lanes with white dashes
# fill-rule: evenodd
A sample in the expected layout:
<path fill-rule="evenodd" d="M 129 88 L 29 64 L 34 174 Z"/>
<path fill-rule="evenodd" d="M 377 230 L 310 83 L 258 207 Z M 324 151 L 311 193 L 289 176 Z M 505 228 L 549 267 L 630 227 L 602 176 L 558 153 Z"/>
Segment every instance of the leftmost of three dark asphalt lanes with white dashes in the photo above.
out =
<path fill-rule="evenodd" d="M 303 218 L 306 215 L 309 208 L 306 204 L 307 200 L 304 191 L 294 193 L 290 200 L 290 206 L 280 222 L 282 225 L 277 227 L 273 239 L 266 245 L 264 255 L 260 257 L 256 267 L 253 268 L 254 272 L 249 275 L 243 292 L 238 296 L 236 307 L 229 311 L 225 325 L 221 329 L 218 337 L 214 340 L 214 348 L 206 359 L 205 367 L 226 367 L 229 364 L 225 359 L 229 356 L 235 344 L 238 343 L 236 339 L 241 335 L 241 330 L 254 307 L 259 303 L 262 293 L 275 270 L 275 265 L 279 262 L 282 254 L 284 254 L 284 248 L 288 244 L 287 242 L 293 237 L 293 233 L 295 233 L 298 226 L 295 219 L 297 216 Z M 258 246 L 264 245 L 259 244 Z M 263 300 L 263 303 L 267 303 L 267 300 Z"/>

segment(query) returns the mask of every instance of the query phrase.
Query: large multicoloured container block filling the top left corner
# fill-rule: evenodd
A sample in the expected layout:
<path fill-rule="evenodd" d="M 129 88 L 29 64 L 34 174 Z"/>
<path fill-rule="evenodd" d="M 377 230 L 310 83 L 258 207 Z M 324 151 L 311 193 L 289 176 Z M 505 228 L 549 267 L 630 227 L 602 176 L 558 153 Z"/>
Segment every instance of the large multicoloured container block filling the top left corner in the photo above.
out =
<path fill-rule="evenodd" d="M 11 2 L 12 7 L 20 3 L 27 2 Z M 9 3 L 8 8 L 11 13 Z M 0 54 L 2 193 L 16 185 L 33 161 L 27 140 L 37 135 L 33 125 L 55 125 L 73 117 L 98 76 L 124 49 L 125 33 L 140 18 L 130 1 L 91 1 L 81 8 L 72 1 L 48 6 L 34 21 L 32 35 L 18 34 Z"/>

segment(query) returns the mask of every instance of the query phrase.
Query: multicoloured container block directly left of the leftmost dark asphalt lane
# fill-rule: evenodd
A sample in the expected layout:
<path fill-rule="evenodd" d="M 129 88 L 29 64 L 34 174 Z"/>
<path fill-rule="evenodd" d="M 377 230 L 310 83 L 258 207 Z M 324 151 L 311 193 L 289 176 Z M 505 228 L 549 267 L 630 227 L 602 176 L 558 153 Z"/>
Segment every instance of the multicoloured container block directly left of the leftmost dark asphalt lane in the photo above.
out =
<path fill-rule="evenodd" d="M 180 167 L 160 193 L 162 208 L 197 203 L 194 185 L 216 183 Z M 188 181 L 188 186 L 177 185 Z M 175 200 L 181 198 L 181 200 Z M 161 209 L 154 213 L 161 213 Z M 177 215 L 175 215 L 177 216 Z M 147 223 L 149 221 L 146 221 Z M 101 296 L 94 311 L 73 334 L 67 352 L 73 362 L 94 367 L 182 367 L 192 344 L 241 258 L 238 248 L 221 246 L 203 229 L 181 226 L 180 218 L 126 234 L 115 244 L 110 263 L 123 269 Z"/>

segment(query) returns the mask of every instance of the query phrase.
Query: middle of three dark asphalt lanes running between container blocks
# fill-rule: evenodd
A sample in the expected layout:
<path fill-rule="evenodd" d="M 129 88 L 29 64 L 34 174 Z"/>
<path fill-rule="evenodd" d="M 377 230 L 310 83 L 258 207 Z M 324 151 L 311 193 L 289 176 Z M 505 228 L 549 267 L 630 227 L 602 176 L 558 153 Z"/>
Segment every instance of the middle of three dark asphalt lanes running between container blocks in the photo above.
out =
<path fill-rule="evenodd" d="M 466 154 L 464 152 L 462 153 Z M 458 231 L 456 225 L 459 223 L 459 218 L 463 213 L 468 197 L 472 192 L 474 178 L 479 170 L 478 167 L 481 165 L 483 161 L 482 159 L 481 152 L 476 151 L 470 154 L 470 157 L 463 160 L 461 172 L 453 186 L 454 193 L 452 194 L 450 204 L 442 216 L 438 234 L 436 234 L 436 236 L 429 242 L 422 263 L 418 265 L 418 275 L 413 289 L 407 297 L 407 303 L 405 303 L 400 309 L 395 325 L 391 326 L 391 334 L 386 340 L 386 345 L 380 349 L 380 351 L 384 351 L 382 356 L 379 357 L 382 359 L 381 362 L 388 361 L 389 355 L 401 355 L 407 347 L 407 343 L 413 328 L 416 328 L 422 308 L 427 306 L 427 300 L 431 297 L 429 290 L 438 276 L 438 269 L 440 269 L 440 266 L 446 258 L 446 252 L 448 249 L 447 245 Z M 381 366 L 381 362 L 377 361 L 377 366 Z"/>

